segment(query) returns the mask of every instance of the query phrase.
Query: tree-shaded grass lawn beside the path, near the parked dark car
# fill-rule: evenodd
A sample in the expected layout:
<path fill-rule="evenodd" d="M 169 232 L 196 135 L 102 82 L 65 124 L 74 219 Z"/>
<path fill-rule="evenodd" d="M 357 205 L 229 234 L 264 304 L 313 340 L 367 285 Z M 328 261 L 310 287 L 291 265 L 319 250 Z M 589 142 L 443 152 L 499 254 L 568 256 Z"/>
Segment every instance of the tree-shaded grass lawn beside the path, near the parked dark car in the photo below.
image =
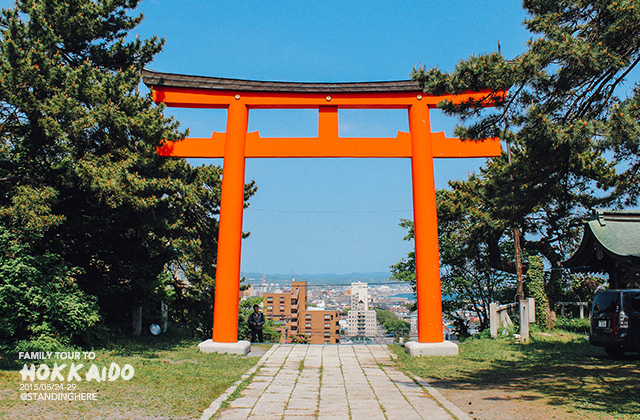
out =
<path fill-rule="evenodd" d="M 584 335 L 534 333 L 527 345 L 474 338 L 460 344 L 458 357 L 412 358 L 399 346 L 393 350 L 403 369 L 443 390 L 500 390 L 528 398 L 532 409 L 553 407 L 572 418 L 640 419 L 640 357 L 612 359 Z"/>

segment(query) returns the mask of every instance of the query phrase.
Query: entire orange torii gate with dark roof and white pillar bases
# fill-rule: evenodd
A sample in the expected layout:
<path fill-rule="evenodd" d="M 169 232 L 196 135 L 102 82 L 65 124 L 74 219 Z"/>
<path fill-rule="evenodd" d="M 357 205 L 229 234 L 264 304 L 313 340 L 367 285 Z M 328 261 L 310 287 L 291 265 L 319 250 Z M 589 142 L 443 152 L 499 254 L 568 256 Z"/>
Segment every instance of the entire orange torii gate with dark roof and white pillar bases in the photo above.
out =
<path fill-rule="evenodd" d="M 248 352 L 238 342 L 238 298 L 244 208 L 246 158 L 410 158 L 418 299 L 418 343 L 408 343 L 411 354 L 457 354 L 443 342 L 438 224 L 433 158 L 500 155 L 498 138 L 461 141 L 444 132 L 432 133 L 429 109 L 443 100 L 460 103 L 484 100 L 489 92 L 426 95 L 414 81 L 366 83 L 289 83 L 187 76 L 144 70 L 144 83 L 156 103 L 184 108 L 227 109 L 227 132 L 210 138 L 166 142 L 162 156 L 223 158 L 218 265 L 213 337 L 203 351 Z M 251 109 L 318 109 L 318 136 L 263 138 L 247 133 Z M 340 137 L 338 110 L 406 109 L 409 133 L 391 138 Z M 204 345 L 204 346 L 203 346 Z M 239 347 L 238 347 L 239 346 Z"/>

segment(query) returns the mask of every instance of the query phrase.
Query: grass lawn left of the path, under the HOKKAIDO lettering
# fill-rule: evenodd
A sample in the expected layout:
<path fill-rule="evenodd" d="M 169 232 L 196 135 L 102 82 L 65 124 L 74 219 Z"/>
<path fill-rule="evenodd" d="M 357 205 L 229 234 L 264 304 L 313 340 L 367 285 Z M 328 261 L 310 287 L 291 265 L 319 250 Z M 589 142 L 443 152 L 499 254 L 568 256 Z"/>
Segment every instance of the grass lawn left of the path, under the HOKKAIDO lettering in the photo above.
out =
<path fill-rule="evenodd" d="M 211 402 L 255 365 L 259 357 L 198 352 L 199 340 L 158 340 L 148 337 L 129 341 L 109 350 L 96 350 L 92 361 L 67 363 L 64 382 L 75 385 L 73 392 L 97 393 L 97 401 L 22 401 L 23 384 L 46 384 L 48 380 L 22 381 L 19 369 L 0 370 L 0 418 L 12 419 L 184 419 L 198 418 Z M 255 346 L 259 347 L 259 346 Z M 266 346 L 268 347 L 268 346 Z M 29 362 L 29 361 L 27 361 Z M 69 366 L 83 363 L 82 381 L 66 381 Z M 135 374 L 130 380 L 87 382 L 91 364 L 100 371 L 111 363 L 130 364 Z M 40 391 L 30 391 L 40 392 Z M 51 392 L 51 391 L 49 391 Z M 63 392 L 63 391 L 57 391 Z M 67 392 L 67 391 L 64 391 Z"/>

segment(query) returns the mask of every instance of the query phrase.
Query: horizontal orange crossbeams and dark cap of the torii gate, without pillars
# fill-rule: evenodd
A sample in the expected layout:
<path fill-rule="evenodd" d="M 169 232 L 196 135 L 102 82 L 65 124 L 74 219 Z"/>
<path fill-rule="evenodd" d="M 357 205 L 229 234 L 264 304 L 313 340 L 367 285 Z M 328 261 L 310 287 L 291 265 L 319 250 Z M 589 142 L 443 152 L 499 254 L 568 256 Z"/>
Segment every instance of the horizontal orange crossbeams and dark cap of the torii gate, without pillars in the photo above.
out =
<path fill-rule="evenodd" d="M 493 105 L 489 91 L 458 95 L 426 95 L 412 80 L 356 83 L 299 83 L 189 76 L 144 70 L 143 80 L 153 99 L 167 106 L 184 108 L 229 108 L 242 105 L 249 109 L 318 109 L 318 136 L 312 138 L 262 138 L 247 133 L 245 157 L 392 157 L 410 158 L 409 133 L 396 137 L 339 137 L 339 109 L 436 108 L 449 100 L 460 103 L 473 99 Z M 428 115 L 427 115 L 428 118 Z M 486 157 L 500 154 L 497 138 L 482 142 L 461 142 L 447 138 L 444 132 L 431 133 L 435 158 Z M 226 133 L 214 132 L 209 138 L 188 138 L 165 143 L 158 149 L 162 156 L 222 158 Z M 464 143 L 464 146 L 463 144 Z M 462 147 L 463 146 L 463 147 Z"/>

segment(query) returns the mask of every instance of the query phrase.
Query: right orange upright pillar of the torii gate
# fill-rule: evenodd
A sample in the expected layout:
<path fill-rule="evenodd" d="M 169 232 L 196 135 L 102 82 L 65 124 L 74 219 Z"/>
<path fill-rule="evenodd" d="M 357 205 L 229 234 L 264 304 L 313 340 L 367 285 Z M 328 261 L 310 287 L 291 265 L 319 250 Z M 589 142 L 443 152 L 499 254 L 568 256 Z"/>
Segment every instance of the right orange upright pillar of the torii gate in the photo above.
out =
<path fill-rule="evenodd" d="M 418 342 L 440 343 L 443 338 L 438 219 L 429 107 L 425 102 L 417 102 L 409 107 L 409 131 L 411 132 Z"/>

